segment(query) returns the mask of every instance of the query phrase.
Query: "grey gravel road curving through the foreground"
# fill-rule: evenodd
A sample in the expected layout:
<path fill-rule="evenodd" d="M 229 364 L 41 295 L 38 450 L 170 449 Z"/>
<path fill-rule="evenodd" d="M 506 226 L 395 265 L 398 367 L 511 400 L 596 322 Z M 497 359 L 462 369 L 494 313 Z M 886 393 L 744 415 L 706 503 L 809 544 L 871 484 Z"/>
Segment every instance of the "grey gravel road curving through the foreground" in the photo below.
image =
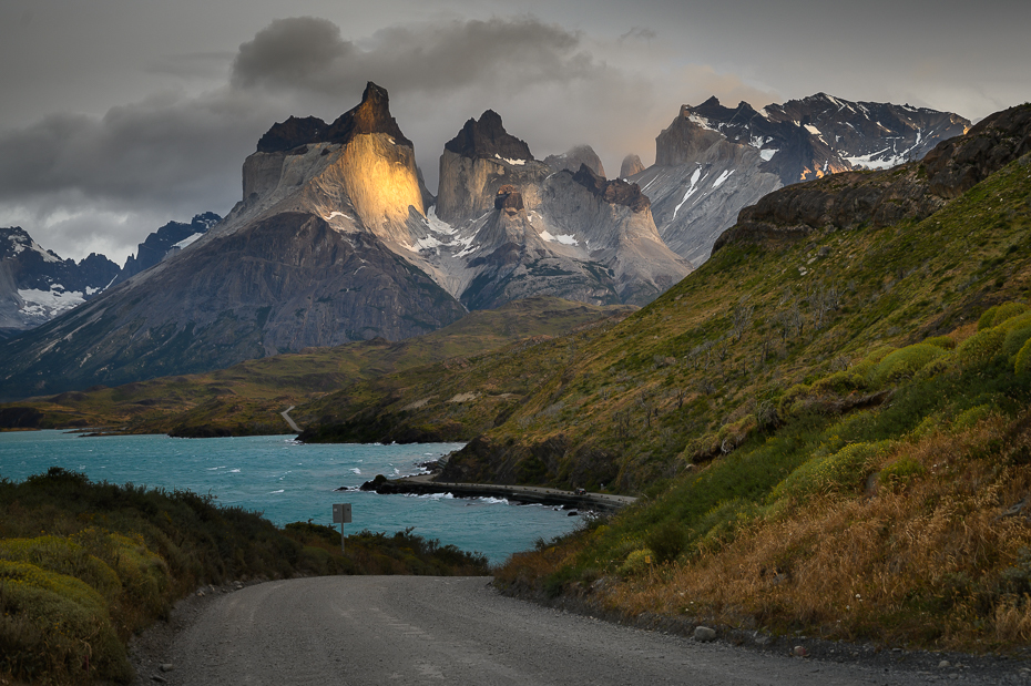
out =
<path fill-rule="evenodd" d="M 137 683 L 927 684 L 1029 683 L 744 651 L 645 632 L 499 595 L 484 577 L 277 581 L 195 604 Z M 159 672 L 156 663 L 171 663 Z"/>

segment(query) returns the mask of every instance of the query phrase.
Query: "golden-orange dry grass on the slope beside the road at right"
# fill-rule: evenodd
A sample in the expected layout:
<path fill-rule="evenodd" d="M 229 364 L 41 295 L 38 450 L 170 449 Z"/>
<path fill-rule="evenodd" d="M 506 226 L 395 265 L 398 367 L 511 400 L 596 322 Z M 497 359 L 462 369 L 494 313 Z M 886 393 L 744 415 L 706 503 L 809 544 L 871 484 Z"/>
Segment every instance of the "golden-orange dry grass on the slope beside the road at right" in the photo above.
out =
<path fill-rule="evenodd" d="M 1011 454 L 1027 449 L 1029 433 L 990 419 L 962 434 L 901 443 L 881 467 L 904 457 L 922 464 L 926 473 L 908 484 L 796 503 L 789 519 L 752 522 L 726 547 L 661 579 L 620 584 L 605 603 L 828 638 L 963 648 L 1027 642 L 1031 505 L 1004 513 L 1031 494 L 1031 467 L 979 455 L 999 441 Z"/>

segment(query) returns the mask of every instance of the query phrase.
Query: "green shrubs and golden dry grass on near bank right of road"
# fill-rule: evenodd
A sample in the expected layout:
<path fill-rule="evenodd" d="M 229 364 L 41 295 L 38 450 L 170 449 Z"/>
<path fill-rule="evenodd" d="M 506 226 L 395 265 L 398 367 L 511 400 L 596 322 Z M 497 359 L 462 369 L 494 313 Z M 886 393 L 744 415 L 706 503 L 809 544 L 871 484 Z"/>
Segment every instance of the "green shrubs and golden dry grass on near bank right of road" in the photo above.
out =
<path fill-rule="evenodd" d="M 977 651 L 1025 645 L 1025 310 L 992 308 L 980 330 L 882 349 L 792 389 L 783 423 L 608 523 L 513 556 L 499 583 L 580 593 L 627 615 L 774 633 Z M 835 410 L 879 383 L 890 387 L 880 406 Z"/>

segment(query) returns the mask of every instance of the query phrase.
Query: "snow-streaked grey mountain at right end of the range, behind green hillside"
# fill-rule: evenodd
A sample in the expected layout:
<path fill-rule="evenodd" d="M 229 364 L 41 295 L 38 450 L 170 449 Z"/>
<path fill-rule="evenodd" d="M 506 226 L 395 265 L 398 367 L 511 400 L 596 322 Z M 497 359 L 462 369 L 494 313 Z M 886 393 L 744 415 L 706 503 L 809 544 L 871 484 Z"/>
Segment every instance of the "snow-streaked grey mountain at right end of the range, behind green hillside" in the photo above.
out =
<path fill-rule="evenodd" d="M 855 168 L 919 160 L 970 122 L 948 112 L 849 102 L 824 93 L 755 110 L 715 98 L 681 107 L 655 141 L 655 165 L 631 175 L 663 239 L 701 264 L 737 213 L 767 193 Z"/>

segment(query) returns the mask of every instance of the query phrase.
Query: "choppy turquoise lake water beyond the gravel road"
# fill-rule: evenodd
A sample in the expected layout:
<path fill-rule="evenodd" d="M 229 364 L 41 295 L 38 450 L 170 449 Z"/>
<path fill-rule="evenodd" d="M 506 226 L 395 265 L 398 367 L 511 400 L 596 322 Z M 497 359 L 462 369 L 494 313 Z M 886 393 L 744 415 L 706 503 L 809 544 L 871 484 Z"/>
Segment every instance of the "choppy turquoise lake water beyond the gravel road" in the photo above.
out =
<path fill-rule="evenodd" d="M 303 444 L 293 436 L 84 438 L 62 431 L 23 431 L 0 433 L 0 477 L 23 481 L 50 467 L 63 467 L 93 481 L 211 493 L 218 504 L 259 511 L 278 525 L 309 519 L 331 525 L 333 503 L 349 502 L 354 522 L 345 524 L 345 533 L 364 529 L 394 533 L 412 526 L 414 533 L 479 551 L 491 562 L 502 562 L 513 552 L 532 547 L 539 537 L 548 540 L 576 525 L 579 518 L 561 510 L 491 498 L 334 491 L 358 487 L 376 474 L 419 473 L 419 462 L 461 446 Z"/>

